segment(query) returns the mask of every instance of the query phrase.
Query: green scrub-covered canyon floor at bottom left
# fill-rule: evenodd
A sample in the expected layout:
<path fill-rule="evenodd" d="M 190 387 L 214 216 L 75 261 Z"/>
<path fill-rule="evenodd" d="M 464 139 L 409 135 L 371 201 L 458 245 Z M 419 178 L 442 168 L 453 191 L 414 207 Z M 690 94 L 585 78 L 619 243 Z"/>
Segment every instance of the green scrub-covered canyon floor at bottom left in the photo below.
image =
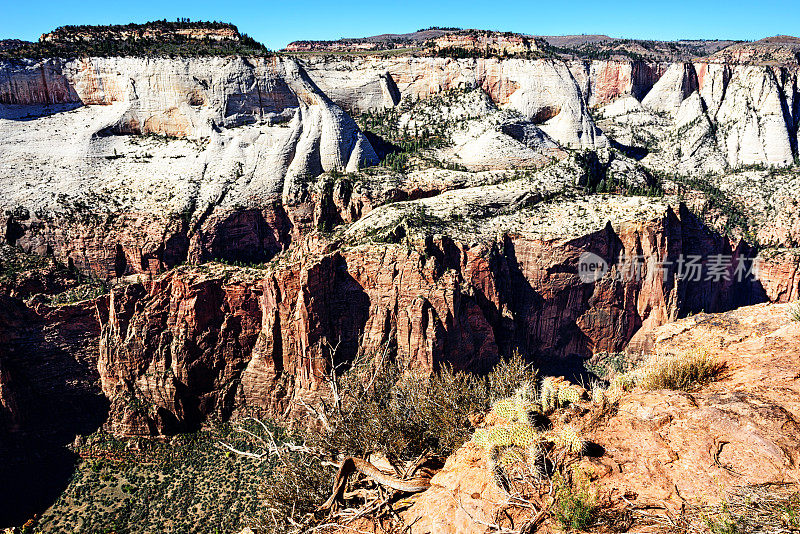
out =
<path fill-rule="evenodd" d="M 31 532 L 238 532 L 262 513 L 265 481 L 282 472 L 224 453 L 221 440 L 245 445 L 229 424 L 165 440 L 88 436 L 68 486 Z"/>

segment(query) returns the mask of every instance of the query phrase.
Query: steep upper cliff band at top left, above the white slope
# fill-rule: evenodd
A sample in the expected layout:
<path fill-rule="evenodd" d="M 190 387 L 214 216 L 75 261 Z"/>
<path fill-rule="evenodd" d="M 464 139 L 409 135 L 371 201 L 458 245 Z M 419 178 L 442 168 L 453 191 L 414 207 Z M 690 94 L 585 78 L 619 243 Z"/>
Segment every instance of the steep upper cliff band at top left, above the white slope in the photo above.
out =
<path fill-rule="evenodd" d="M 15 60 L 2 62 L 0 70 L 0 103 L 124 103 L 116 121 L 108 125 L 120 133 L 200 138 L 220 128 L 285 122 L 298 108 L 335 107 L 289 59 Z M 349 127 L 343 116 L 339 118 L 345 124 L 329 128 Z M 343 132 L 344 146 L 326 146 L 335 152 L 325 155 L 344 159 L 341 165 L 346 166 L 355 144 L 352 135 L 352 131 Z"/>

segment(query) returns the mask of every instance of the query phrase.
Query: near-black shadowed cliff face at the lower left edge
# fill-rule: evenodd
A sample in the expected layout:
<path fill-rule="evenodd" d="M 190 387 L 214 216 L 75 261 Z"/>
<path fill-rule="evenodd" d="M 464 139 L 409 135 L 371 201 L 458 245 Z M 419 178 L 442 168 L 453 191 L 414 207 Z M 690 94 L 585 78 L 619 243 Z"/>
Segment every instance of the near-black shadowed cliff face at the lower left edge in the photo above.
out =
<path fill-rule="evenodd" d="M 91 301 L 31 309 L 0 295 L 0 525 L 52 503 L 76 461 L 65 445 L 108 415 L 96 313 Z"/>

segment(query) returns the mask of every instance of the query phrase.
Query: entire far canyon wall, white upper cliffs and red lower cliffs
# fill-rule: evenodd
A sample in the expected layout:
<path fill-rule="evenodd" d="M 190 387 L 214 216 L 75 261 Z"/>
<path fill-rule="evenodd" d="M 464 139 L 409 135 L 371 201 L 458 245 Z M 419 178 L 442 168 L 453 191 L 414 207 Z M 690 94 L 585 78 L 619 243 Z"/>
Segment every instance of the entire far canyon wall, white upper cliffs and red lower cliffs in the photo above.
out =
<path fill-rule="evenodd" d="M 551 162 L 535 177 L 544 187 L 533 178 L 441 168 L 446 180 L 386 168 L 356 174 L 377 157 L 344 111 L 481 88 L 490 104 L 563 146 L 604 149 L 611 140 L 590 105 L 627 102 L 632 115 L 663 120 L 665 136 L 685 126 L 681 142 L 712 143 L 732 166 L 785 166 L 796 155 L 800 117 L 791 70 L 396 57 L 24 60 L 4 62 L 0 72 L 5 240 L 103 277 L 146 275 L 116 287 L 107 309 L 98 301 L 96 317 L 87 303 L 34 310 L 14 301 L 3 310 L 16 314 L 4 320 L 26 339 L 48 328 L 58 338 L 67 323 L 81 329 L 80 343 L 99 354 L 96 374 L 78 373 L 93 391 L 84 400 L 94 402 L 99 382 L 117 434 L 191 430 L 250 409 L 289 417 L 298 409 L 291 401 L 319 394 L 331 356 L 334 364 L 351 361 L 358 350 L 374 355 L 389 346 L 418 372 L 443 363 L 485 370 L 520 350 L 543 372 L 562 374 L 690 312 L 797 295 L 789 260 L 745 283 L 681 281 L 674 269 L 643 267 L 674 265 L 681 255 L 735 261 L 753 253 L 678 202 L 655 218 L 611 210 L 608 221 L 560 238 L 502 227 L 513 215 L 532 221 L 526 210 L 537 203 L 584 195 L 572 184 L 589 185 L 591 162 Z M 141 135 L 148 133 L 169 137 Z M 442 200 L 435 216 L 425 211 L 430 204 L 413 204 L 448 189 L 470 191 Z M 585 196 L 592 210 L 615 202 Z M 328 235 L 363 222 L 373 207 L 406 200 L 419 224 L 458 215 L 464 228 L 483 224 L 494 237 L 476 231 L 456 239 L 431 226 L 414 240 L 402 225 L 391 243 Z M 593 220 L 582 210 L 562 222 Z M 586 251 L 612 266 L 588 284 L 578 276 Z M 641 258 L 642 276 L 616 277 L 626 256 Z M 213 259 L 259 267 L 205 263 Z M 187 261 L 199 265 L 175 268 Z M 14 328 L 0 329 L 0 340 L 17 335 Z M 49 354 L 36 347 L 25 354 Z M 0 352 L 0 418 L 13 429 L 31 420 L 20 400 L 30 397 L 20 392 L 34 380 L 15 370 L 18 354 Z M 41 367 L 52 374 L 43 384 L 73 380 L 46 361 L 30 368 Z"/>

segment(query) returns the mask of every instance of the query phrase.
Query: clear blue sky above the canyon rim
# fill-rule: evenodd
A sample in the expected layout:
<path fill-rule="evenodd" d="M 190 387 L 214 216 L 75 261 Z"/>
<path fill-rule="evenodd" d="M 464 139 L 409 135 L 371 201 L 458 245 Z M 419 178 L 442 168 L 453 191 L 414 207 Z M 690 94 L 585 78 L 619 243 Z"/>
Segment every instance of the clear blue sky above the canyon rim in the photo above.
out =
<path fill-rule="evenodd" d="M 429 26 L 665 40 L 755 40 L 800 34 L 798 0 L 0 0 L 0 38 L 36 40 L 64 24 L 124 24 L 178 17 L 232 22 L 272 49 L 299 39 L 405 33 Z"/>

